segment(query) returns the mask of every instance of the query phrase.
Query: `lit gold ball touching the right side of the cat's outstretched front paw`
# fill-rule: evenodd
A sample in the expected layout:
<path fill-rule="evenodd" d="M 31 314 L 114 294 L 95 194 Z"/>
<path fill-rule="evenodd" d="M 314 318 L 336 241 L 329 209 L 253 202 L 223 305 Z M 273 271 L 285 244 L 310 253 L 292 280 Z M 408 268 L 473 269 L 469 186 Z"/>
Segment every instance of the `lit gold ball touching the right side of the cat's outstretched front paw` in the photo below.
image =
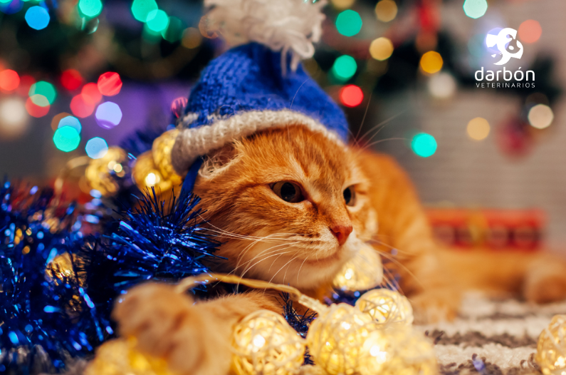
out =
<path fill-rule="evenodd" d="M 234 328 L 232 364 L 239 375 L 298 374 L 305 346 L 281 314 L 259 310 Z"/>

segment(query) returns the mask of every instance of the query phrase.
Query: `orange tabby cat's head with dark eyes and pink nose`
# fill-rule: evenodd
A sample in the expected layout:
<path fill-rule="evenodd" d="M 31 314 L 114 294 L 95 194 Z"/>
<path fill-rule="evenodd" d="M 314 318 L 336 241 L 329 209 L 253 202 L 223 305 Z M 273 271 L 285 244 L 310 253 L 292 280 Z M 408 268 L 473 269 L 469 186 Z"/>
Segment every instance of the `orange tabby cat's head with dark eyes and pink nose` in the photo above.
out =
<path fill-rule="evenodd" d="M 194 192 L 224 242 L 222 270 L 302 289 L 329 282 L 375 231 L 356 158 L 300 125 L 211 153 Z"/>

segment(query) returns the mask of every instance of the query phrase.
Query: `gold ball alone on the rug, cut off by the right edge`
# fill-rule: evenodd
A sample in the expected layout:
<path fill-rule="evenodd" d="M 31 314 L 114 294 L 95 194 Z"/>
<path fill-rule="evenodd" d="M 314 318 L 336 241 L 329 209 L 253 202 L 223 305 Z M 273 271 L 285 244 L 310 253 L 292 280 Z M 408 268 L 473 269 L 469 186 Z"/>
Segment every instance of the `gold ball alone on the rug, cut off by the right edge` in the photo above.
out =
<path fill-rule="evenodd" d="M 555 315 L 538 337 L 535 357 L 545 375 L 566 375 L 566 315 Z"/>

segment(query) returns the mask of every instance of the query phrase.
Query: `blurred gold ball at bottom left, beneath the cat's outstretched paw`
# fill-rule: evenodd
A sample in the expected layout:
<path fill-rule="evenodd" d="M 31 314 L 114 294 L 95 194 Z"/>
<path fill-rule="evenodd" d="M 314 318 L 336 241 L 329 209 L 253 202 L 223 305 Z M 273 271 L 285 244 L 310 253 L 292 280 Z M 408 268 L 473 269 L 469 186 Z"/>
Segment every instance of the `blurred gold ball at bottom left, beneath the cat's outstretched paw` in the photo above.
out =
<path fill-rule="evenodd" d="M 167 361 L 140 353 L 137 340 L 115 339 L 102 344 L 85 375 L 174 375 Z"/>

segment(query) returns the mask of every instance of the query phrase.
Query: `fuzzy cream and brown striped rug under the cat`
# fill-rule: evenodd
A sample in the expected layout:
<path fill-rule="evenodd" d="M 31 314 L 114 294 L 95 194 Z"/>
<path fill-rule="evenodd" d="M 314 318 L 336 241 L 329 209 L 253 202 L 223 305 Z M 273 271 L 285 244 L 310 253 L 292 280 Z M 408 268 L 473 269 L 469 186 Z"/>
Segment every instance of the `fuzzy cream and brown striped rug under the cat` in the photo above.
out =
<path fill-rule="evenodd" d="M 469 293 L 454 322 L 416 328 L 434 340 L 441 374 L 540 374 L 538 336 L 552 316 L 565 312 L 566 302 L 541 306 Z"/>

